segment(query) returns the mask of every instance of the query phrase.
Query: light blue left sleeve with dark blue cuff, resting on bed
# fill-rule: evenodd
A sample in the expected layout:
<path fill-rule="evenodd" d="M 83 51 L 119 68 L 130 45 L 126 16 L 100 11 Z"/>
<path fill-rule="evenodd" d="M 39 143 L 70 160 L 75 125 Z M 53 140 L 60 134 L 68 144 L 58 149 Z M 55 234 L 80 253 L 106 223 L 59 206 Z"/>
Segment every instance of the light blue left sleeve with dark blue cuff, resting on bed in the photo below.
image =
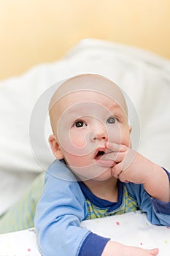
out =
<path fill-rule="evenodd" d="M 58 168 L 67 172 L 65 178 L 56 177 Z M 80 227 L 87 214 L 85 197 L 77 181 L 72 179 L 72 173 L 66 169 L 61 162 L 55 161 L 46 173 L 34 220 L 39 252 L 43 256 L 100 256 L 109 239 Z"/>

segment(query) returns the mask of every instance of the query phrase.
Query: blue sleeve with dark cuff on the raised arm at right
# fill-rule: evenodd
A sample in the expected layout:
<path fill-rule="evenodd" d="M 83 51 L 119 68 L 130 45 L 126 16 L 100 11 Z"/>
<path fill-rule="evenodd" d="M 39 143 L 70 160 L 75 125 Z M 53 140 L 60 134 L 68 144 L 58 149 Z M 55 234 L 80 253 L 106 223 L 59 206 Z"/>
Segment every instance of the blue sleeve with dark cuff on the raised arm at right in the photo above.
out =
<path fill-rule="evenodd" d="M 170 181 L 170 173 L 167 170 L 165 171 Z M 164 203 L 161 200 L 150 197 L 142 185 L 127 185 L 131 196 L 136 197 L 139 208 L 147 214 L 147 218 L 152 224 L 170 226 L 170 202 Z"/>

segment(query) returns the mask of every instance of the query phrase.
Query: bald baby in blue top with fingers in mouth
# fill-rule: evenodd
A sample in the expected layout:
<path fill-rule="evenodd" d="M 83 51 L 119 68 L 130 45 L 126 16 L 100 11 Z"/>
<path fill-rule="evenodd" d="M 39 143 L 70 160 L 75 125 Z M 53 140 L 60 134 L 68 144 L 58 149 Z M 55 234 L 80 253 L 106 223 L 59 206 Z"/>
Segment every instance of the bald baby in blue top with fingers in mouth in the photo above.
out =
<path fill-rule="evenodd" d="M 170 225 L 170 174 L 131 148 L 128 109 L 119 87 L 100 75 L 66 80 L 50 101 L 50 122 L 56 160 L 36 207 L 39 252 L 158 255 L 158 249 L 125 246 L 80 227 L 85 219 L 137 209 L 152 224 Z"/>

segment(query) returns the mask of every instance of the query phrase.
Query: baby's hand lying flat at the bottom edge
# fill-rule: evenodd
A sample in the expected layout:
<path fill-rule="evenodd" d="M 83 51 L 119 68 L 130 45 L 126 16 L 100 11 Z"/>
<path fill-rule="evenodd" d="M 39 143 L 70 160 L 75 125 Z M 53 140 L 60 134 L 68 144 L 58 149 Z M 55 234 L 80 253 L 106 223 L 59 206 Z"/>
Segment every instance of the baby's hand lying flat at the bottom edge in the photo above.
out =
<path fill-rule="evenodd" d="M 101 256 L 156 256 L 158 255 L 158 248 L 142 249 L 134 246 L 125 246 L 123 244 L 109 241 L 104 247 Z"/>

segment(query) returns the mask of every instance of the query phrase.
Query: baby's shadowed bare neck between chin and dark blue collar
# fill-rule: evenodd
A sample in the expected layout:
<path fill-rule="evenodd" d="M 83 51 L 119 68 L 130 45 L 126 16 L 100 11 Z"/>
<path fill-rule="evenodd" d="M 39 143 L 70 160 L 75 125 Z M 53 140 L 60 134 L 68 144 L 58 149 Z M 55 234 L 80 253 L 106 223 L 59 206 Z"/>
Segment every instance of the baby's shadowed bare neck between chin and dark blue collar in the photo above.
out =
<path fill-rule="evenodd" d="M 83 182 L 97 197 L 108 200 L 110 202 L 117 202 L 117 178 L 110 178 L 107 181 L 88 180 Z"/>

